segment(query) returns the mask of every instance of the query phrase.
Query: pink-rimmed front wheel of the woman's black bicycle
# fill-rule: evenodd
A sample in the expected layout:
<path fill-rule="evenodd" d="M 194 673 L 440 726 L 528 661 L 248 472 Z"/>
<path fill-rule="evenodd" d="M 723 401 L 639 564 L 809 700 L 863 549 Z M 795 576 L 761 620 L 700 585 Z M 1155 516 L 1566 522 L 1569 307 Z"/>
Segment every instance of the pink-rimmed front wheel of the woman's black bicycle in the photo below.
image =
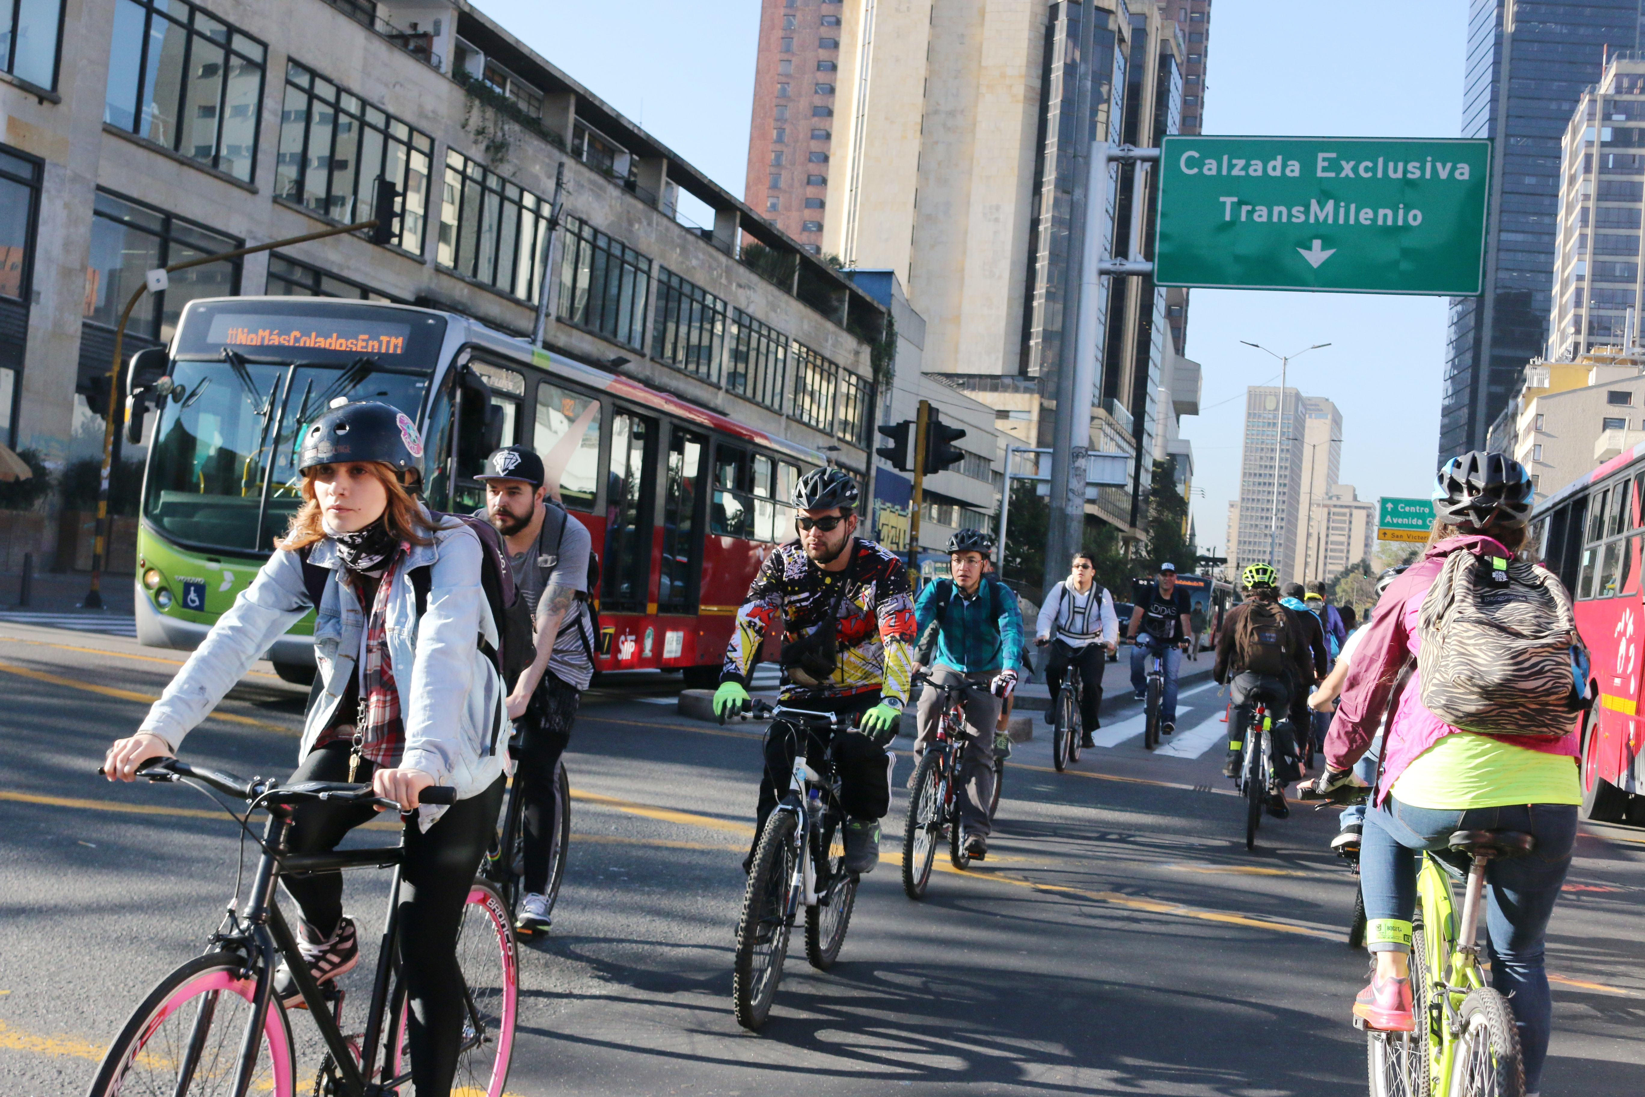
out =
<path fill-rule="evenodd" d="M 257 980 L 240 979 L 243 967 L 245 957 L 239 954 L 207 952 L 155 984 L 109 1044 L 87 1090 L 90 1097 L 117 1097 L 122 1092 L 215 1097 L 234 1092 L 240 1043 L 257 992 Z M 230 1007 L 227 1016 L 224 1005 Z M 196 1031 L 201 1021 L 204 1028 Z M 188 1079 L 179 1079 L 179 1067 L 189 1062 L 183 1049 L 191 1043 L 197 1048 L 192 1071 Z M 258 1048 L 248 1092 L 294 1097 L 296 1054 L 291 1025 L 280 1002 L 268 1003 Z M 145 1082 L 145 1077 L 151 1081 Z"/>

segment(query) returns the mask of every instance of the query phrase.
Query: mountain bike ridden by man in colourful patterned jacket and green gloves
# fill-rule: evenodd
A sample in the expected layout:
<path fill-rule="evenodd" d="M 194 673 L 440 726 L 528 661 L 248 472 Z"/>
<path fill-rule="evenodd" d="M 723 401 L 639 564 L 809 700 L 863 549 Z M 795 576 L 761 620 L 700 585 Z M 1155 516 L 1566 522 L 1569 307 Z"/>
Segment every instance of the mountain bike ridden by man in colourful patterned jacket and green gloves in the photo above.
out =
<path fill-rule="evenodd" d="M 770 707 L 763 701 L 755 701 L 752 711 L 755 717 L 770 717 L 767 735 L 798 737 L 826 729 L 831 742 L 818 760 L 806 758 L 803 738 L 795 745 L 788 793 L 767 817 L 753 850 L 730 977 L 732 1005 L 744 1028 L 760 1028 L 772 1011 L 799 908 L 806 911 L 806 959 L 827 970 L 839 959 L 857 901 L 857 873 L 846 872 L 846 811 L 831 758 L 832 742 L 857 717 L 785 704 Z"/>

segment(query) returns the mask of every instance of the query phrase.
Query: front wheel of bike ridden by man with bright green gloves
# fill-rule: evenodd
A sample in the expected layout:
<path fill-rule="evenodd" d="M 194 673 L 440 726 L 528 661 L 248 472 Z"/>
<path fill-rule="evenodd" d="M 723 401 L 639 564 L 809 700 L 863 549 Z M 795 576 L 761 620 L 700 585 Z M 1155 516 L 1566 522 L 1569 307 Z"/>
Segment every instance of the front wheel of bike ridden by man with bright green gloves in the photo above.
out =
<path fill-rule="evenodd" d="M 793 928 L 788 918 L 788 882 L 795 878 L 796 826 L 790 811 L 770 814 L 742 895 L 730 998 L 737 1023 L 750 1030 L 765 1025 L 772 1000 L 776 998 L 776 984 L 783 979 L 788 933 Z"/>

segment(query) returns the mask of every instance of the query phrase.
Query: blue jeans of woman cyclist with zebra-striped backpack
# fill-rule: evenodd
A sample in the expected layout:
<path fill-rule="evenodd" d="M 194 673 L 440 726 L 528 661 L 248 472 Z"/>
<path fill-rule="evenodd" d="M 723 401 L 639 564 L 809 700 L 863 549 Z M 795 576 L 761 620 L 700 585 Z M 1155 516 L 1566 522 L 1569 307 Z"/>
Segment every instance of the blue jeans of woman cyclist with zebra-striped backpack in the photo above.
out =
<path fill-rule="evenodd" d="M 1359 886 L 1365 918 L 1408 923 L 1416 910 L 1415 850 L 1446 849 L 1453 831 L 1523 831 L 1536 839 L 1525 857 L 1494 860 L 1485 868 L 1485 954 L 1490 985 L 1513 1010 L 1525 1056 L 1525 1092 L 1541 1089 L 1553 1002 L 1543 969 L 1543 936 L 1559 886 L 1571 867 L 1576 840 L 1574 804 L 1515 804 L 1510 808 L 1411 808 L 1388 796 L 1365 816 L 1360 840 Z M 1457 916 L 1462 903 L 1457 900 Z M 1406 952 L 1397 942 L 1370 942 L 1370 951 Z"/>

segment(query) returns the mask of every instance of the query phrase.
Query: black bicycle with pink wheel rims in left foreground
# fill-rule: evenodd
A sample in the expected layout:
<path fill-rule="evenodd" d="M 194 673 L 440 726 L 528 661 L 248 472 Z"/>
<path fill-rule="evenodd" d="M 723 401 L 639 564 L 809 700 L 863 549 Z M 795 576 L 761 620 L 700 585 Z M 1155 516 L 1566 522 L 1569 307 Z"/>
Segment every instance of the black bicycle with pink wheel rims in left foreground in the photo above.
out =
<path fill-rule="evenodd" d="M 387 1097 L 410 1089 L 410 1005 L 400 962 L 398 903 L 403 840 L 382 849 L 281 852 L 293 804 L 337 799 L 393 811 L 400 806 L 373 796 L 370 785 L 301 781 L 281 786 L 268 778 L 247 781 L 176 758 L 150 763 L 138 776 L 155 783 L 183 781 L 201 791 L 217 789 L 243 799 L 248 816 L 255 809 L 266 811 L 268 822 L 257 839 L 247 819 L 230 812 L 262 850 L 250 893 L 239 908 L 230 901 L 222 924 L 207 941 L 206 954 L 161 979 L 137 1007 L 109 1046 L 90 1097 L 250 1092 L 294 1097 L 299 1084 L 291 1025 L 286 1007 L 273 993 L 280 960 L 290 965 L 326 1044 L 313 1089 L 303 1085 L 306 1092 L 317 1097 Z M 454 791 L 426 788 L 421 801 L 451 804 Z M 388 867 L 395 872 L 365 1028 L 349 1031 L 352 1026 L 344 1026 L 344 990 L 334 982 L 324 987 L 314 984 L 298 941 L 275 903 L 275 890 L 285 875 Z M 518 956 L 503 898 L 485 880 L 475 880 L 469 890 L 457 936 L 457 964 L 466 984 L 467 1020 L 454 1092 L 502 1097 L 513 1054 Z"/>

